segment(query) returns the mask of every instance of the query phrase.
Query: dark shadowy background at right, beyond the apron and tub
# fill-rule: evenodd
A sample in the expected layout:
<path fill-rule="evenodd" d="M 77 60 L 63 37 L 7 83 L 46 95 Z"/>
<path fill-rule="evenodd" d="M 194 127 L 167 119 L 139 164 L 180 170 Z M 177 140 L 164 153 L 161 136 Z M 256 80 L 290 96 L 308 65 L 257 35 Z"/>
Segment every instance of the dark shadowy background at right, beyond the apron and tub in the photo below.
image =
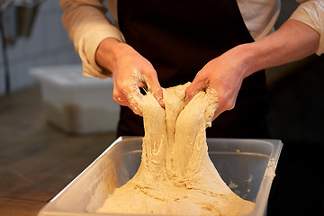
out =
<path fill-rule="evenodd" d="M 298 4 L 282 1 L 276 26 Z M 268 216 L 324 215 L 324 56 L 268 69 L 268 123 L 284 142 L 268 202 Z"/>

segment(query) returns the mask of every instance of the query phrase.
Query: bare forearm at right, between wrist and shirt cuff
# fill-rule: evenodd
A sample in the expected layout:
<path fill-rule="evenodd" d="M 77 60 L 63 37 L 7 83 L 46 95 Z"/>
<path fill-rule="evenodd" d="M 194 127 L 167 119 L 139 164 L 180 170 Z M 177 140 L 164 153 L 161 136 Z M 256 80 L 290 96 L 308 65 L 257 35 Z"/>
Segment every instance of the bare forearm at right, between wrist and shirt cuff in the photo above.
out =
<path fill-rule="evenodd" d="M 317 51 L 319 44 L 317 31 L 299 21 L 288 20 L 274 33 L 242 46 L 249 62 L 245 76 L 306 58 Z"/>

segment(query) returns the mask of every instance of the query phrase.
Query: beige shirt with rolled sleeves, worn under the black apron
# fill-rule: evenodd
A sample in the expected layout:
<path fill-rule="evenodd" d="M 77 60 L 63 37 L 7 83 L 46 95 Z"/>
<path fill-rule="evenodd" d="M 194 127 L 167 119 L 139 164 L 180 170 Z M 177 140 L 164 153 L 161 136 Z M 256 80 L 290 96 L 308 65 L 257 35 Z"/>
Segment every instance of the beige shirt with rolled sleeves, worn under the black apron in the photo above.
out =
<path fill-rule="evenodd" d="M 324 52 L 324 0 L 296 0 L 301 3 L 290 19 L 309 25 L 320 33 L 317 54 Z M 254 40 L 274 31 L 280 0 L 237 0 L 240 13 Z M 107 0 L 112 17 L 118 22 L 117 0 Z M 121 31 L 106 17 L 103 0 L 60 0 L 64 10 L 62 22 L 79 54 L 85 76 L 105 78 L 95 62 L 95 51 L 107 37 L 125 41 Z"/>

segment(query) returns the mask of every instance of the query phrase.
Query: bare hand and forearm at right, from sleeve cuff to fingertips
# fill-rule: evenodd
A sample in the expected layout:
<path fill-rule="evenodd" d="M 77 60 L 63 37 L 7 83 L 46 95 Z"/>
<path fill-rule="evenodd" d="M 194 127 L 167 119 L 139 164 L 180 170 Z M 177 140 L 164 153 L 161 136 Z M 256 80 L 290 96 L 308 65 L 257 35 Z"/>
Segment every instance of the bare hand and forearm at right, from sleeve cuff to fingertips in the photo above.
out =
<path fill-rule="evenodd" d="M 320 46 L 320 33 L 295 20 L 286 21 L 277 31 L 261 40 L 242 44 L 208 62 L 186 89 L 188 100 L 204 88 L 218 94 L 221 112 L 234 108 L 245 77 L 267 68 L 283 65 L 315 53 Z"/>

